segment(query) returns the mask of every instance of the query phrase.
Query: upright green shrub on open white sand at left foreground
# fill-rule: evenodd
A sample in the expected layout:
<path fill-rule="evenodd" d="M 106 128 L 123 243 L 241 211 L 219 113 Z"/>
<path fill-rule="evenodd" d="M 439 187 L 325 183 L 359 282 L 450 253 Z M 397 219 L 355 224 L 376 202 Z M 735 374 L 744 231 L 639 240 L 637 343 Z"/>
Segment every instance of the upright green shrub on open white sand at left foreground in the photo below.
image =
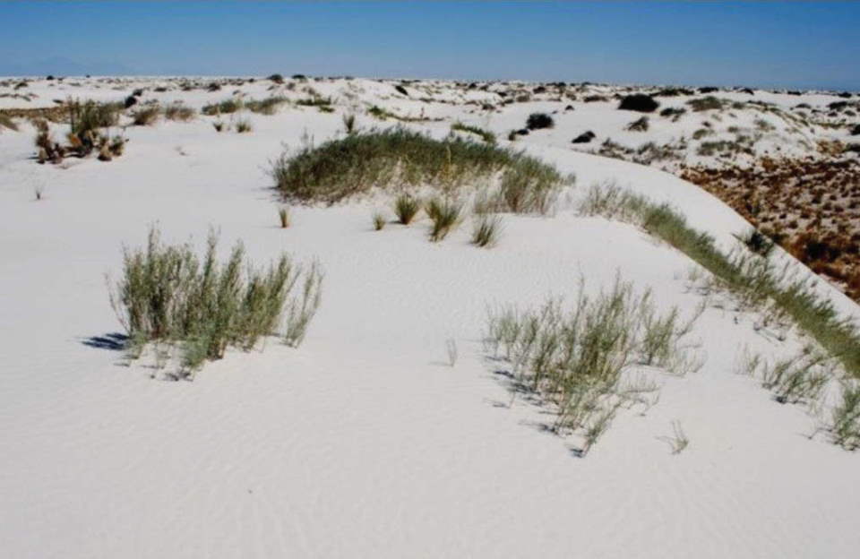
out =
<path fill-rule="evenodd" d="M 254 269 L 245 264 L 241 243 L 226 262 L 218 261 L 217 245 L 211 234 L 200 258 L 190 245 L 164 245 L 153 228 L 144 248 L 124 250 L 123 276 L 110 300 L 138 355 L 148 342 L 181 346 L 188 375 L 206 359 L 223 357 L 228 347 L 254 348 L 280 329 L 288 303 L 302 305 L 304 295 L 289 301 L 302 270 L 286 254 L 267 269 Z M 314 264 L 305 284 L 317 278 Z"/>

